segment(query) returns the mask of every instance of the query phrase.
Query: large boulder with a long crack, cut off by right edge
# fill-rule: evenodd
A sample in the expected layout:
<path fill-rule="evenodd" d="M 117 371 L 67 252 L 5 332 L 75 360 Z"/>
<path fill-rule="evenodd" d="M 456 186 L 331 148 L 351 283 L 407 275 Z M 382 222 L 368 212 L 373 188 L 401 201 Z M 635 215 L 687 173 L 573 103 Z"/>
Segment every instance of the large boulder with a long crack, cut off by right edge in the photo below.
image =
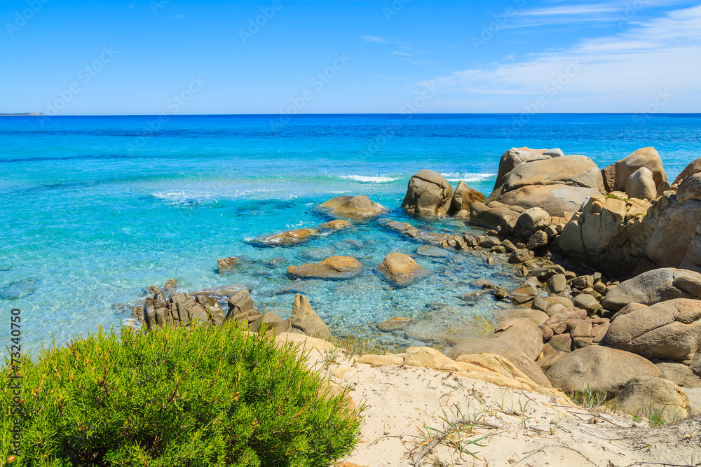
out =
<path fill-rule="evenodd" d="M 611 319 L 606 344 L 647 358 L 691 361 L 701 347 L 701 300 L 632 303 Z"/>

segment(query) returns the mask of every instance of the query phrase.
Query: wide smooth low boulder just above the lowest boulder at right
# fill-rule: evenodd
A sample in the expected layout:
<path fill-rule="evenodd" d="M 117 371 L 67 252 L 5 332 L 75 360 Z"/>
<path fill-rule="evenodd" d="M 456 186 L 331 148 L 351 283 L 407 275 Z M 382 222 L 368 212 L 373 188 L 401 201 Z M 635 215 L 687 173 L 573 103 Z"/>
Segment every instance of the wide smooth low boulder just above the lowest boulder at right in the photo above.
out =
<path fill-rule="evenodd" d="M 659 377 L 653 363 L 630 352 L 590 345 L 559 359 L 547 370 L 553 387 L 563 391 L 618 393 L 634 377 Z"/>

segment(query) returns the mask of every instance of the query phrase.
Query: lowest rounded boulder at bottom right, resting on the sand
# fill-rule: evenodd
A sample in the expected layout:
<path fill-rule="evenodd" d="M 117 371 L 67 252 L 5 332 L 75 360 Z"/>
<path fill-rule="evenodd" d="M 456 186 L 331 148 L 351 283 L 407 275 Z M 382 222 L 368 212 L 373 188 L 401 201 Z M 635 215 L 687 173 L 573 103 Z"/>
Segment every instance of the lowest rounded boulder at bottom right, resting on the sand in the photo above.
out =
<path fill-rule="evenodd" d="M 667 423 L 688 417 L 688 396 L 667 379 L 634 377 L 623 386 L 615 400 L 619 410 L 632 415 L 658 414 Z"/>

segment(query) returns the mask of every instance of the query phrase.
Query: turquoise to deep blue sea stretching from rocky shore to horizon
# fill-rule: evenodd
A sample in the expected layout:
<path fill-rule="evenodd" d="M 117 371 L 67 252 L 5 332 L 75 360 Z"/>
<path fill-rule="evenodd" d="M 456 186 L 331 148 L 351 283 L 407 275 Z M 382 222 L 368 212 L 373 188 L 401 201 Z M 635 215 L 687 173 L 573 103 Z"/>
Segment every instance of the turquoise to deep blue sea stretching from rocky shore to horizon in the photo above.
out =
<path fill-rule="evenodd" d="M 294 283 L 287 266 L 346 254 L 365 265 L 360 277 L 297 284 L 335 333 L 402 340 L 374 324 L 421 320 L 435 302 L 468 320 L 503 304 L 457 295 L 477 290 L 475 279 L 513 284 L 508 265 L 418 256 L 434 274 L 395 290 L 373 268 L 419 244 L 374 221 L 292 248 L 250 240 L 319 225 L 328 219 L 316 204 L 356 194 L 388 207 L 389 218 L 466 230 L 407 218 L 398 206 L 409 177 L 433 169 L 489 194 L 501 154 L 524 145 L 588 155 L 599 167 L 654 146 L 672 181 L 701 156 L 701 115 L 320 115 L 284 125 L 278 116 L 0 118 L 0 316 L 22 309 L 25 351 L 36 353 L 52 335 L 62 342 L 120 326 L 144 287 L 174 277 L 182 291 L 245 284 L 261 309 L 285 318 L 294 299 L 280 293 Z M 238 255 L 248 259 L 236 272 L 217 273 L 217 258 Z M 278 257 L 282 265 L 266 264 Z"/>

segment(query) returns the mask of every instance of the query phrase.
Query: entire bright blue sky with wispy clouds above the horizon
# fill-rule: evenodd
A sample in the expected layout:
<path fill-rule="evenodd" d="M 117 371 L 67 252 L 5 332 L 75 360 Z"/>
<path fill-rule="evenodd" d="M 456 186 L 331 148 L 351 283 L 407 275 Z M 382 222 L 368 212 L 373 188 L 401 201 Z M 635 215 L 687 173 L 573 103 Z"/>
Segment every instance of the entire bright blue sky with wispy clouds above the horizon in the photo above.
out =
<path fill-rule="evenodd" d="M 0 112 L 701 112 L 683 0 L 2 0 Z"/>

